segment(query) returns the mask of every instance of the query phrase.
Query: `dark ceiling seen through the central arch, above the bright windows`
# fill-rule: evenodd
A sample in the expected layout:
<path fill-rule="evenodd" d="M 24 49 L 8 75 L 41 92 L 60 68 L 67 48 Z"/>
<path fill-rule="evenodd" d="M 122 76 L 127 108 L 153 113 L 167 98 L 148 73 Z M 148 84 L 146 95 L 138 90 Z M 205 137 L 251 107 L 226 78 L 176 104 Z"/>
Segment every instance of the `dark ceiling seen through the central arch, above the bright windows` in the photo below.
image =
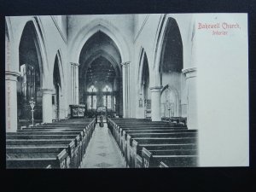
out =
<path fill-rule="evenodd" d="M 105 33 L 96 32 L 84 44 L 79 56 L 79 79 L 84 84 L 113 83 L 120 75 L 121 56 L 117 45 Z"/>

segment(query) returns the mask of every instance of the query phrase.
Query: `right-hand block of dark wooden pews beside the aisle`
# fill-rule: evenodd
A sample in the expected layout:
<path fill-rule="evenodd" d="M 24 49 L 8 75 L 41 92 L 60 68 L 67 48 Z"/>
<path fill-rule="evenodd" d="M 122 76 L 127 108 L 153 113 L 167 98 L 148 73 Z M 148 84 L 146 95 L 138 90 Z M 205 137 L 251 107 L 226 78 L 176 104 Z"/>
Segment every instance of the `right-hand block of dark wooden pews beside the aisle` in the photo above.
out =
<path fill-rule="evenodd" d="M 176 156 L 179 156 L 177 158 L 181 158 L 182 154 L 185 152 L 177 152 L 178 150 L 189 151 L 186 153 L 195 153 L 196 151 L 195 149 L 193 151 L 193 149 L 190 150 L 189 148 L 196 148 L 195 143 L 197 141 L 197 131 L 188 130 L 187 127 L 184 125 L 161 124 L 159 122 L 150 123 L 147 121 L 143 122 L 143 120 L 122 121 L 120 119 L 119 119 L 119 122 L 113 122 L 112 119 L 108 119 L 108 127 L 112 131 L 113 137 L 116 139 L 119 145 L 119 148 L 124 154 L 127 164 L 131 167 L 135 167 L 137 164 L 140 164 L 140 163 L 141 163 L 141 166 L 143 166 L 142 148 L 140 147 L 140 146 L 143 147 L 143 145 L 153 145 L 153 146 L 156 145 L 155 146 L 156 149 L 155 150 L 153 149 L 153 152 L 157 153 L 156 157 L 160 155 L 163 156 L 166 153 L 169 156 L 176 155 Z M 139 144 L 132 142 L 132 146 L 131 146 L 130 143 L 133 137 L 137 141 L 139 141 L 138 142 Z M 168 142 L 162 143 L 164 141 L 163 139 L 166 139 L 166 141 Z M 144 143 L 144 140 L 146 141 L 148 140 L 149 144 L 147 142 Z M 141 141 L 143 142 L 141 143 Z M 155 143 L 155 141 L 158 141 L 158 142 Z M 159 148 L 160 145 L 162 145 L 163 148 L 166 148 L 166 145 L 167 145 L 169 148 L 166 148 L 166 152 L 163 150 L 162 152 L 157 151 L 157 148 Z M 189 148 L 182 149 L 184 148 L 184 145 L 189 146 Z M 137 146 L 139 147 L 137 148 Z M 173 147 L 176 147 L 174 151 L 172 149 Z M 177 152 L 177 153 L 173 154 L 174 152 Z M 159 164 L 157 166 L 159 166 Z M 189 164 L 189 165 L 193 166 L 193 164 Z M 178 165 L 176 164 L 176 166 Z"/>

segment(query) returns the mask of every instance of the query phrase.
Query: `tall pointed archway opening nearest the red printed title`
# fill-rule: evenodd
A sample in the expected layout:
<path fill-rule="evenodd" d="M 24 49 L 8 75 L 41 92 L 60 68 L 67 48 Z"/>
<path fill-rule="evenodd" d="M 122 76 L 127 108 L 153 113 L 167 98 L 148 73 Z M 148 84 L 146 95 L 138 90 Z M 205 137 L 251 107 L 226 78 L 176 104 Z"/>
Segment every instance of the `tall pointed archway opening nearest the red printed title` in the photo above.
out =
<path fill-rule="evenodd" d="M 168 18 L 160 54 L 161 116 L 181 116 L 181 94 L 184 82 L 183 42 L 176 20 Z M 169 110 L 168 113 L 167 110 Z"/>

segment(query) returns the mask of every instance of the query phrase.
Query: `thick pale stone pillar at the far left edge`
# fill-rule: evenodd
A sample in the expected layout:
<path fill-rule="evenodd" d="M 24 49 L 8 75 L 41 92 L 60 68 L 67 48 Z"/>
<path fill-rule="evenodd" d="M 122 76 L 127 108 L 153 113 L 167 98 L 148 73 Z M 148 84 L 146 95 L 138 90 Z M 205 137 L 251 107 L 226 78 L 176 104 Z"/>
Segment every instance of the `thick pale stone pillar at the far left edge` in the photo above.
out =
<path fill-rule="evenodd" d="M 5 71 L 5 125 L 6 132 L 15 132 L 18 128 L 17 117 L 17 77 L 20 73 Z"/>

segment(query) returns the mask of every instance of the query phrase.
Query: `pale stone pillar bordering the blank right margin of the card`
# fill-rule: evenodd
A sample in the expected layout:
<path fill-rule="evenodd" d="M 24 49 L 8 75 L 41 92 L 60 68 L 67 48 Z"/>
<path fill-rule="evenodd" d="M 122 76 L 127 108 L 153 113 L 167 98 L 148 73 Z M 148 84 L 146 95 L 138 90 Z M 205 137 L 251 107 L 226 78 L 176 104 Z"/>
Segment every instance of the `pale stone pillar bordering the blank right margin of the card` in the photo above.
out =
<path fill-rule="evenodd" d="M 183 69 L 186 75 L 187 99 L 187 125 L 189 129 L 198 129 L 197 125 L 197 97 L 196 97 L 196 67 Z"/>

